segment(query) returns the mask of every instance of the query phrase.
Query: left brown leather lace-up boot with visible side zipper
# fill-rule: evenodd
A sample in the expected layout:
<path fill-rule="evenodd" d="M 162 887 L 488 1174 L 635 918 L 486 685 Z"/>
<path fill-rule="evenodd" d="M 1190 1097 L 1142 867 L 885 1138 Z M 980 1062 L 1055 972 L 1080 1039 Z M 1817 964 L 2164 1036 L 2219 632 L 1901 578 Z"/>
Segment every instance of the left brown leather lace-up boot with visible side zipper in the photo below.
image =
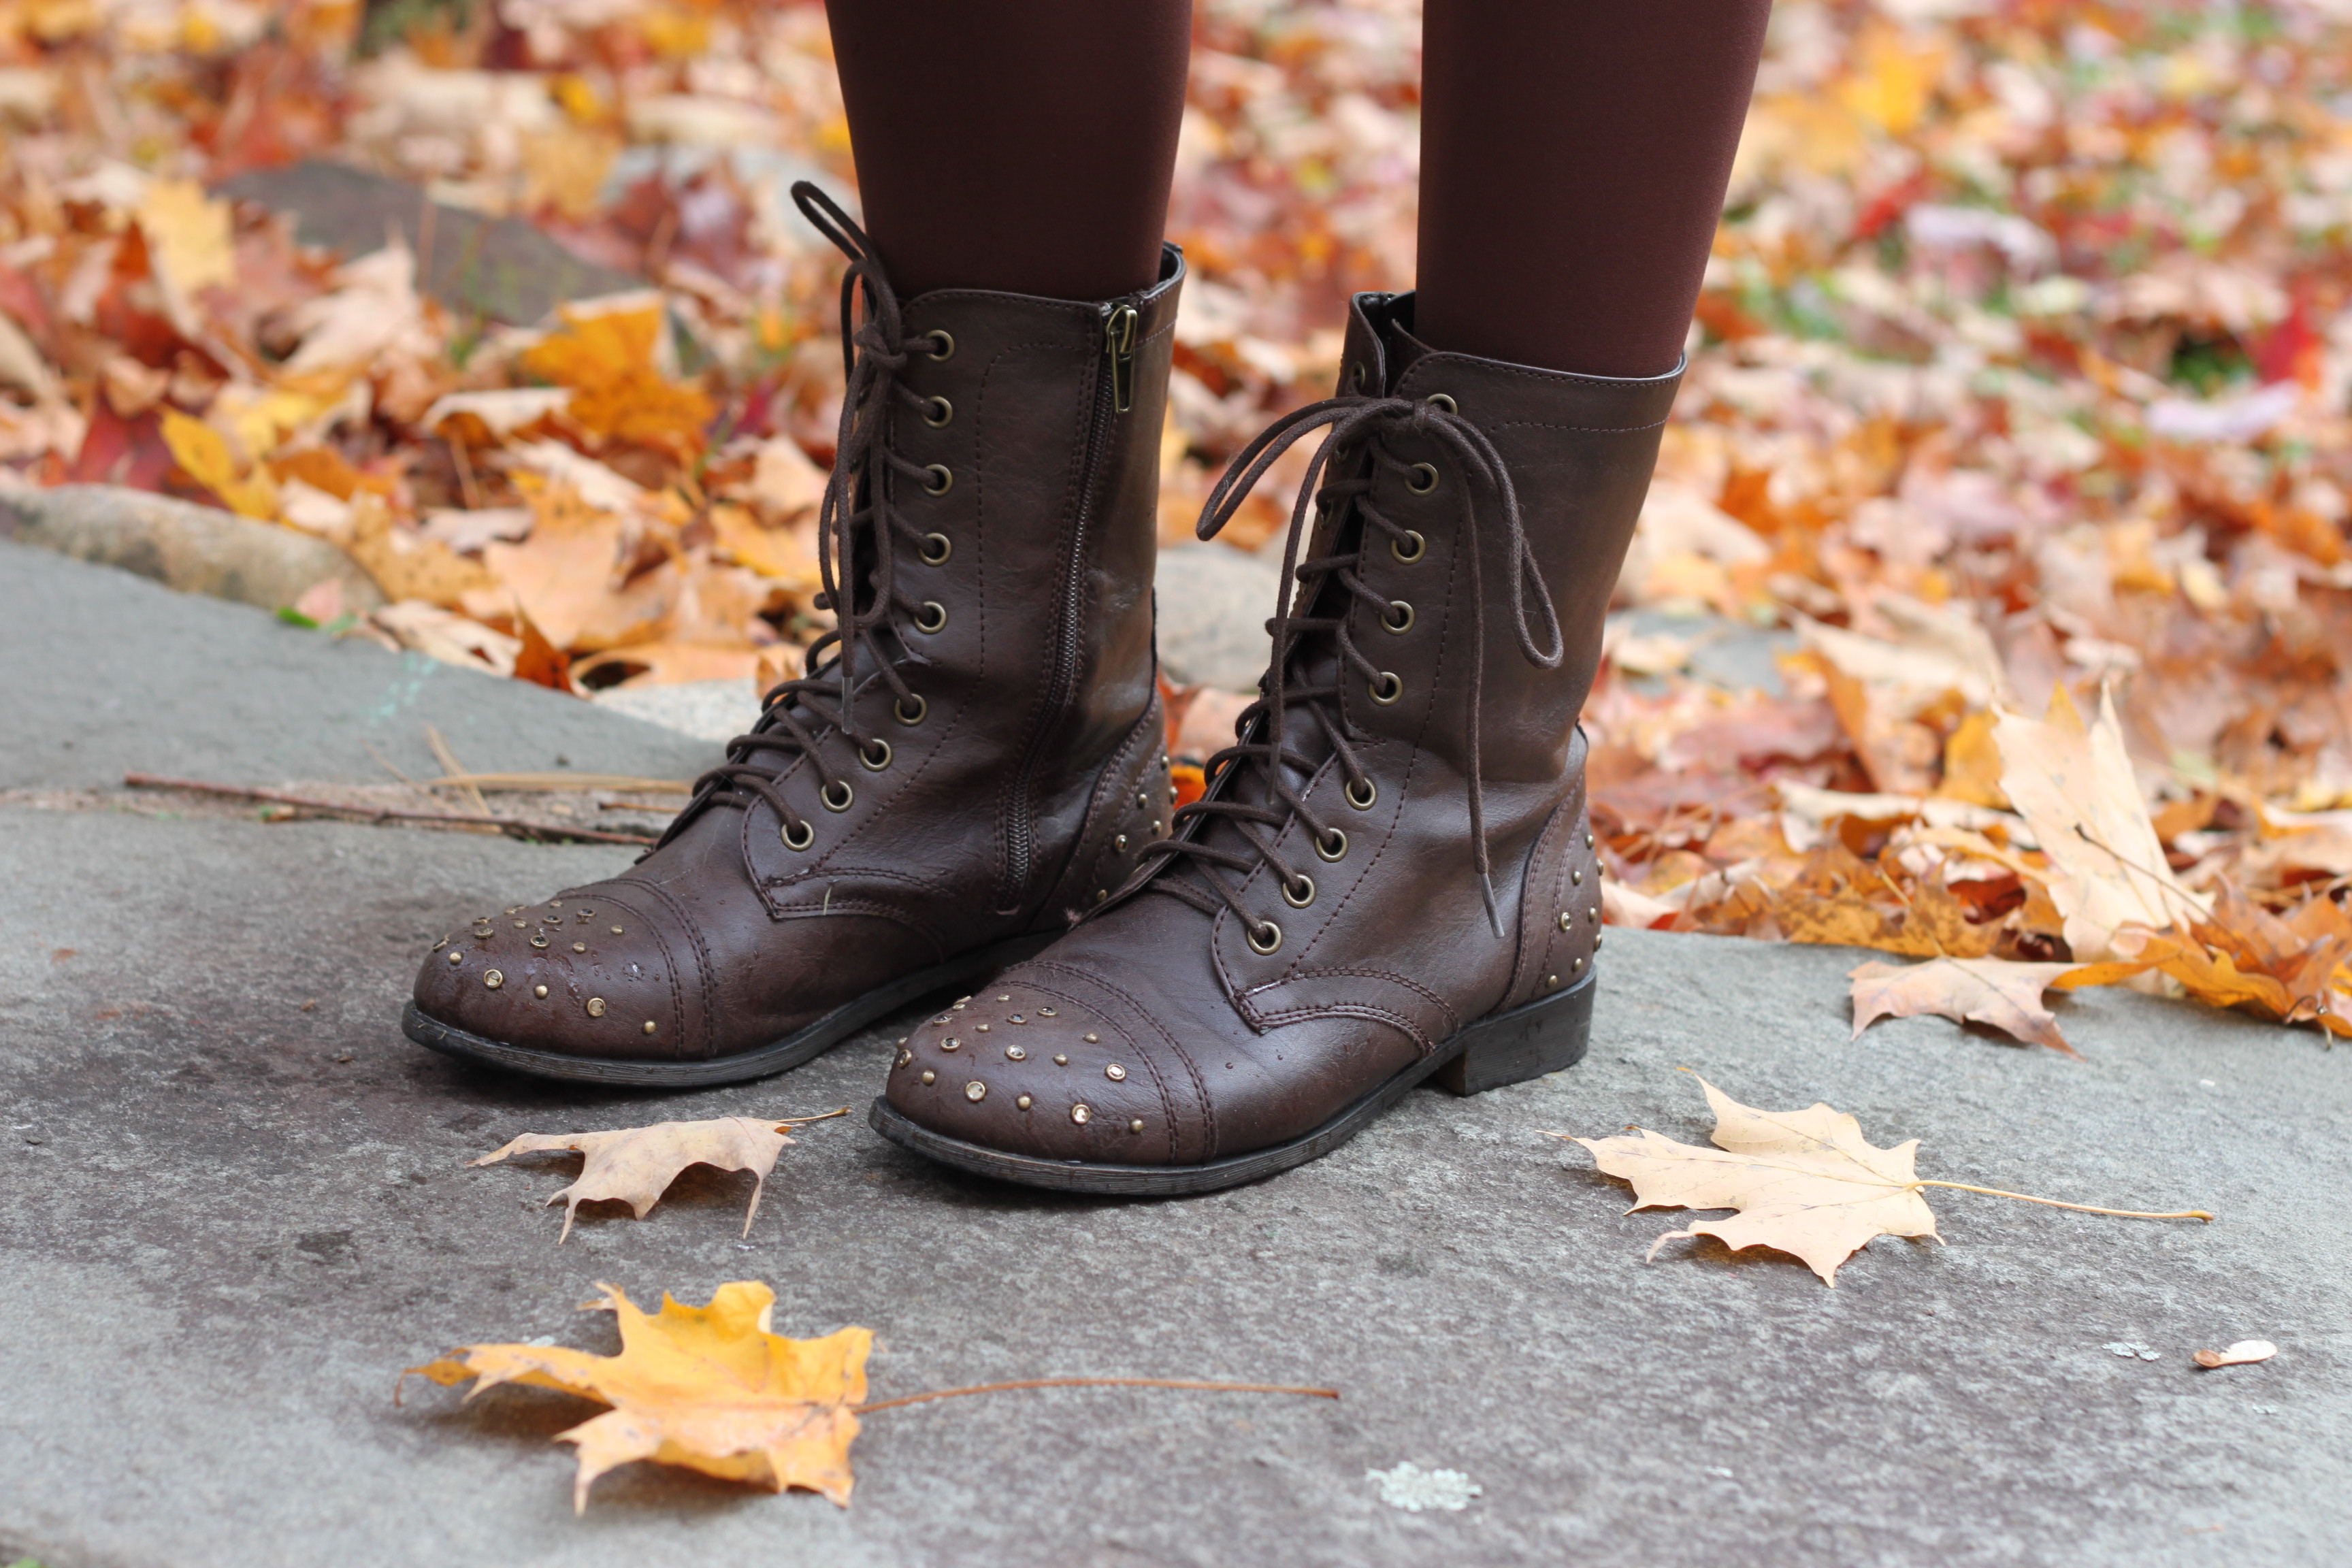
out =
<path fill-rule="evenodd" d="M 1167 835 L 1150 588 L 1183 256 L 1098 303 L 901 306 L 856 223 L 795 197 L 849 254 L 837 632 L 630 872 L 437 943 L 402 1018 L 421 1046 L 602 1084 L 783 1072 L 1037 952 Z"/>

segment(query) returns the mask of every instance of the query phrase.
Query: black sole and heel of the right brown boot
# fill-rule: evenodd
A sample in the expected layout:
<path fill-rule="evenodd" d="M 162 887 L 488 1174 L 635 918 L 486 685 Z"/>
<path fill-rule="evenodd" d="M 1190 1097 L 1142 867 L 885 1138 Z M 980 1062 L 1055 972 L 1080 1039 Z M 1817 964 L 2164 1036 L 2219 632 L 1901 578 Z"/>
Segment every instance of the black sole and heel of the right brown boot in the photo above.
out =
<path fill-rule="evenodd" d="M 1007 1154 L 962 1138 L 934 1133 L 927 1126 L 898 1114 L 889 1100 L 877 1098 L 868 1112 L 868 1124 L 891 1143 L 927 1154 L 943 1166 L 993 1175 L 1023 1187 L 1051 1187 L 1054 1192 L 1098 1192 L 1105 1197 L 1181 1197 L 1188 1192 L 1216 1192 L 1263 1180 L 1277 1171 L 1322 1159 L 1338 1145 L 1362 1133 L 1381 1112 L 1435 1079 L 1439 1088 L 1458 1095 L 1475 1095 L 1503 1084 L 1559 1072 L 1583 1060 L 1592 1044 L 1592 983 L 1599 973 L 1541 1001 L 1482 1018 L 1468 1030 L 1444 1041 L 1435 1053 L 1388 1079 L 1362 1100 L 1324 1121 L 1312 1133 L 1277 1143 L 1268 1150 L 1251 1150 L 1232 1159 L 1211 1159 L 1200 1166 L 1105 1166 L 1082 1159 L 1035 1159 Z"/>

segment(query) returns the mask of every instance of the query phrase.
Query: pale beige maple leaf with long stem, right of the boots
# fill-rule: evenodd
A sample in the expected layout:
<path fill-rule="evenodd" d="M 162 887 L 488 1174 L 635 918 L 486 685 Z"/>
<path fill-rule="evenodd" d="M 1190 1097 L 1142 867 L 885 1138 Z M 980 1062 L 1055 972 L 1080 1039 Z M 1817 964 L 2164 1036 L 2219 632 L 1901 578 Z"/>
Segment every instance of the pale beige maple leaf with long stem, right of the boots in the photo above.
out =
<path fill-rule="evenodd" d="M 1698 1220 L 1689 1229 L 1665 1232 L 1651 1244 L 1651 1258 L 1668 1241 L 1715 1237 L 1733 1251 L 1769 1246 L 1790 1253 L 1835 1288 L 1837 1267 L 1875 1237 L 1933 1237 L 1943 1241 L 1936 1234 L 1933 1211 L 1919 1197 L 1922 1187 L 1987 1192 L 2051 1208 L 2133 1220 L 2213 1218 L 2201 1208 L 2180 1213 L 2093 1208 L 2037 1199 L 2025 1192 L 2002 1192 L 1999 1187 L 1929 1180 L 1912 1168 L 1919 1150 L 1917 1138 L 1882 1150 L 1863 1138 L 1860 1121 L 1828 1105 L 1762 1112 L 1740 1105 L 1705 1079 L 1698 1079 L 1698 1086 L 1708 1091 L 1708 1105 L 1715 1107 L 1712 1150 L 1677 1143 L 1646 1128 L 1639 1138 L 1545 1133 L 1545 1138 L 1581 1143 L 1602 1173 L 1632 1182 L 1635 1206 L 1628 1213 L 1639 1208 L 1738 1211 L 1733 1220 Z"/>

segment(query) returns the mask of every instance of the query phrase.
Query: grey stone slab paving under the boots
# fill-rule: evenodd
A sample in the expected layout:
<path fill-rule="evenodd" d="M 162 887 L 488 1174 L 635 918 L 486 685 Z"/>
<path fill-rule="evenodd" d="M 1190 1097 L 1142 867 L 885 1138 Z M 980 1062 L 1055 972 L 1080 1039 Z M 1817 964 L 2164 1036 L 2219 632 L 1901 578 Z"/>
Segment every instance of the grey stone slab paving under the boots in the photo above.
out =
<path fill-rule="evenodd" d="M 397 675 L 94 567 L 0 552 L 0 595 L 9 783 L 367 776 L 374 710 L 350 693 L 400 679 L 419 689 L 400 712 L 477 736 L 459 745 L 480 766 L 548 766 L 555 745 L 581 769 L 694 766 L 583 703 Z M 134 611 L 108 618 L 118 599 Z M 539 1204 L 567 1161 L 463 1161 L 522 1131 L 863 1107 L 894 1039 L 652 1095 L 400 1037 L 437 933 L 623 853 L 0 802 L 0 1561 L 2345 1561 L 2352 1053 L 2310 1034 L 2093 992 L 2063 1004 L 2082 1060 L 1940 1020 L 1856 1041 L 1851 952 L 1613 933 L 1581 1067 L 1416 1093 L 1254 1187 L 1037 1194 L 851 1117 L 786 1150 L 748 1239 L 746 1178 L 699 1173 L 557 1246 L 562 1211 Z M 1828 1098 L 1877 1143 L 1919 1138 L 1929 1175 L 2220 1222 L 1936 1192 L 1947 1246 L 1882 1239 L 1835 1291 L 1712 1241 L 1644 1262 L 1691 1215 L 1623 1213 L 1621 1185 L 1541 1133 L 1703 1140 L 1677 1067 L 1752 1105 Z M 699 1302 L 727 1279 L 769 1281 L 783 1333 L 870 1326 L 877 1399 L 1035 1375 L 1343 1399 L 955 1399 L 868 1418 L 849 1509 L 637 1465 L 586 1516 L 548 1439 L 588 1406 L 414 1380 L 393 1403 L 402 1366 L 454 1345 L 609 1349 L 609 1319 L 574 1309 L 597 1281 Z M 2239 1338 L 2279 1356 L 2192 1368 Z M 1388 1507 L 1367 1472 L 1406 1460 L 1482 1493 Z"/>

